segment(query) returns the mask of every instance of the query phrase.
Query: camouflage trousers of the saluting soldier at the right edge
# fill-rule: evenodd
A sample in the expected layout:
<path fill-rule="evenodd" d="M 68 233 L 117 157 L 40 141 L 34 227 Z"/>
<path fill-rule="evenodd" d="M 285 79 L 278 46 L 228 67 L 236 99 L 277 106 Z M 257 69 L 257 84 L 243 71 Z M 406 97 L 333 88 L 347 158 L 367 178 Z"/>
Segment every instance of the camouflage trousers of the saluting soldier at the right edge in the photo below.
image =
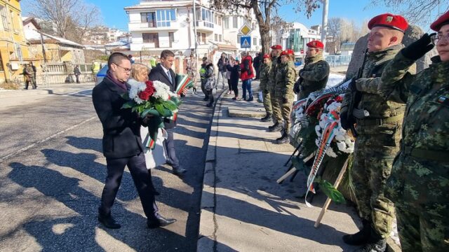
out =
<path fill-rule="evenodd" d="M 399 239 L 403 252 L 449 251 L 449 209 L 443 205 L 427 206 L 419 211 L 396 205 Z"/>

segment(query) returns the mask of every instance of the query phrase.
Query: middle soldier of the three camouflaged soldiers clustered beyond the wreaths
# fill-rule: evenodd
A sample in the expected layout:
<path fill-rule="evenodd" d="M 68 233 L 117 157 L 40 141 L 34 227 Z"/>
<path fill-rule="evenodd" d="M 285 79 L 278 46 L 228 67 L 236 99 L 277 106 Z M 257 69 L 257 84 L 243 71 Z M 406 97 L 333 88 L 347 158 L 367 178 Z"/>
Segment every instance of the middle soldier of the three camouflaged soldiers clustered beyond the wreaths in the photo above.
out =
<path fill-rule="evenodd" d="M 273 110 L 273 123 L 274 125 L 269 126 L 268 130 L 270 132 L 280 132 L 282 130 L 282 115 L 281 115 L 281 106 L 279 105 L 279 102 L 277 99 L 274 99 L 274 86 L 276 85 L 276 71 L 277 71 L 277 65 L 281 64 L 281 52 L 282 47 L 281 45 L 273 45 L 272 46 L 272 71 L 269 75 L 269 81 L 268 81 L 268 89 L 269 89 L 269 95 L 272 98 L 272 110 Z"/>

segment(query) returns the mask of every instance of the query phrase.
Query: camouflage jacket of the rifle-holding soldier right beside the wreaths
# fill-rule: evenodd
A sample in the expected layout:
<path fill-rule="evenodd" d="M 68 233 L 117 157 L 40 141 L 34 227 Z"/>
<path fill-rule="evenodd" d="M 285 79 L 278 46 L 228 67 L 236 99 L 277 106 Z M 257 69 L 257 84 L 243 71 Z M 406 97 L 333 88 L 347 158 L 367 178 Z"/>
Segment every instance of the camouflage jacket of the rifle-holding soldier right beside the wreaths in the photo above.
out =
<path fill-rule="evenodd" d="M 392 134 L 400 127 L 403 113 L 406 106 L 397 102 L 385 102 L 377 93 L 377 87 L 380 85 L 380 76 L 387 66 L 388 62 L 394 58 L 403 45 L 393 45 L 379 52 L 368 52 L 362 77 L 356 80 L 357 90 L 362 93 L 361 102 L 354 104 L 354 108 L 364 109 L 370 114 L 365 121 L 382 119 L 381 125 L 363 125 L 358 121 L 356 130 L 358 133 L 377 134 L 386 132 Z M 410 73 L 415 73 L 415 65 L 408 69 Z M 351 90 L 347 90 L 342 102 L 342 111 L 347 110 L 351 99 Z M 391 120 L 389 120 L 391 119 Z"/>

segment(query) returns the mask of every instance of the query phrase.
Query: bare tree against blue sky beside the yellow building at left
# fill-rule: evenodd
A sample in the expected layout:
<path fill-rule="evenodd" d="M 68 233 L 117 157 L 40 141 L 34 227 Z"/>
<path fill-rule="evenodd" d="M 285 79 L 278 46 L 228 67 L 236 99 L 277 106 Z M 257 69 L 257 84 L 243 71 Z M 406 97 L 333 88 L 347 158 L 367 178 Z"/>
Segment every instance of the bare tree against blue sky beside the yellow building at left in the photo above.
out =
<path fill-rule="evenodd" d="M 34 0 L 27 3 L 29 15 L 51 22 L 55 35 L 77 42 L 101 19 L 100 10 L 82 0 Z"/>

